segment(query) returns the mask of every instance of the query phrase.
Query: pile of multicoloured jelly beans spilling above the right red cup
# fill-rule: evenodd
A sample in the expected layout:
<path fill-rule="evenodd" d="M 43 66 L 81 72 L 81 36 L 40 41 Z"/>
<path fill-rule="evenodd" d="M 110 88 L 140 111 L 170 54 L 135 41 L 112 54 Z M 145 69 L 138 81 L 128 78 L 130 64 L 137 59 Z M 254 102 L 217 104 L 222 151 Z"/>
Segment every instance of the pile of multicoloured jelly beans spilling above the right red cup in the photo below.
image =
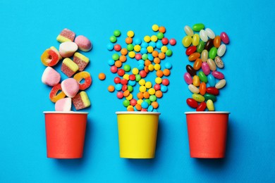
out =
<path fill-rule="evenodd" d="M 184 30 L 187 34 L 182 40 L 183 46 L 187 47 L 185 53 L 188 60 L 194 62 L 193 66 L 186 65 L 187 72 L 184 74 L 184 80 L 189 84 L 188 89 L 193 93 L 186 103 L 191 108 L 196 108 L 196 111 L 204 111 L 206 108 L 214 111 L 219 89 L 226 85 L 224 74 L 217 69 L 224 68 L 221 56 L 226 52 L 228 35 L 226 32 L 215 35 L 209 28 L 204 30 L 202 23 L 193 25 L 193 29 L 186 25 Z M 194 34 L 193 31 L 200 33 Z"/>

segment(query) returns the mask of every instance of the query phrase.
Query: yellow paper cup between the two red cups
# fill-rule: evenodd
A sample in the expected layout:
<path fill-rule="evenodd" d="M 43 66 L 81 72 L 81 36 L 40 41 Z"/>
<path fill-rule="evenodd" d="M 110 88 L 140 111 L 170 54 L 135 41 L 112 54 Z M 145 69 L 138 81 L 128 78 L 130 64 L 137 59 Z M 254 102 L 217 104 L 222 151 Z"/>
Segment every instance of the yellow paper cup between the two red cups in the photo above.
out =
<path fill-rule="evenodd" d="M 121 158 L 154 158 L 159 115 L 157 112 L 116 112 Z"/>

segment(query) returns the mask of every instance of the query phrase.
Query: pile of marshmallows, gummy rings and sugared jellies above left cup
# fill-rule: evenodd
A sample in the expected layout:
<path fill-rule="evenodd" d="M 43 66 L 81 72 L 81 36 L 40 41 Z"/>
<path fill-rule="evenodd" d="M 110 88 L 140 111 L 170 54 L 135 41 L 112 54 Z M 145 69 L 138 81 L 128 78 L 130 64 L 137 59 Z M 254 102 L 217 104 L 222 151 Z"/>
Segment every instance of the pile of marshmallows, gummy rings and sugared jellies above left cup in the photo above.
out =
<path fill-rule="evenodd" d="M 56 111 L 71 111 L 72 102 L 76 110 L 87 108 L 90 106 L 90 99 L 84 90 L 92 84 L 92 77 L 83 70 L 90 59 L 76 51 L 90 51 L 92 43 L 82 35 L 75 37 L 75 33 L 68 29 L 62 30 L 56 40 L 61 43 L 59 50 L 51 46 L 41 56 L 42 63 L 47 66 L 42 82 L 52 87 L 49 99 L 55 103 Z M 74 76 L 60 83 L 61 75 L 53 67 L 62 59 L 61 71 L 68 77 Z"/>

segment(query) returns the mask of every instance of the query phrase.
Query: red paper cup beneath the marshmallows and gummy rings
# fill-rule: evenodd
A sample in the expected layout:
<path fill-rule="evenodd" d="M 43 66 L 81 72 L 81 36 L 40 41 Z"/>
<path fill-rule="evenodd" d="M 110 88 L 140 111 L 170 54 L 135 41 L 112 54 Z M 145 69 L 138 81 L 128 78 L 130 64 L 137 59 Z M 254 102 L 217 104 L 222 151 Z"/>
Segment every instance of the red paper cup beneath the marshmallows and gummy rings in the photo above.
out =
<path fill-rule="evenodd" d="M 45 111 L 48 158 L 82 158 L 88 113 Z"/>

